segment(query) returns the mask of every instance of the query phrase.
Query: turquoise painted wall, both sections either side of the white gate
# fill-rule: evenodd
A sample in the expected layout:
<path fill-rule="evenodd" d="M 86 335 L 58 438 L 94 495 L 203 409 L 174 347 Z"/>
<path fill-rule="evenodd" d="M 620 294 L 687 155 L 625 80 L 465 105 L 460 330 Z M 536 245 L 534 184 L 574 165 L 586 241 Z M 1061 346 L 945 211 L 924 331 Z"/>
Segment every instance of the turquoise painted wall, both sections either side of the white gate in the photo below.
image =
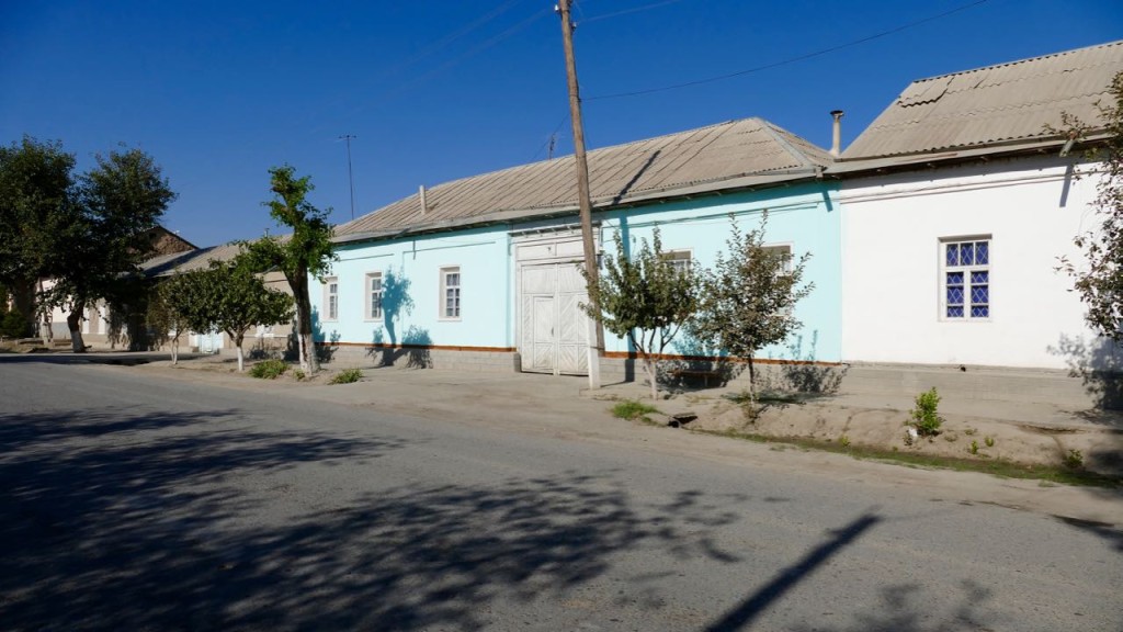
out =
<path fill-rule="evenodd" d="M 602 247 L 612 252 L 612 233 L 623 229 L 628 243 L 650 240 L 659 226 L 664 250 L 690 250 L 695 264 L 712 265 L 725 249 L 729 216 L 742 228 L 759 225 L 768 209 L 766 241 L 789 244 L 796 256 L 811 252 L 804 280 L 815 285 L 798 304 L 803 328 L 785 344 L 763 350 L 760 358 L 836 362 L 841 360 L 841 254 L 840 209 L 836 189 L 802 186 L 728 196 L 712 196 L 673 204 L 657 204 L 599 215 Z M 574 218 L 569 218 L 572 223 Z M 325 292 L 312 283 L 312 305 L 318 341 L 349 344 L 395 343 L 438 346 L 514 347 L 517 337 L 513 252 L 509 232 L 518 226 L 478 228 L 341 246 L 332 277 L 339 283 L 339 318 L 327 322 Z M 459 267 L 462 316 L 440 315 L 440 270 Z M 384 282 L 395 279 L 408 301 L 398 305 L 387 296 L 386 317 L 369 320 L 366 310 L 366 276 L 381 272 Z M 623 340 L 608 334 L 608 351 L 628 351 Z M 695 354 L 688 341 L 676 343 L 670 353 Z"/>

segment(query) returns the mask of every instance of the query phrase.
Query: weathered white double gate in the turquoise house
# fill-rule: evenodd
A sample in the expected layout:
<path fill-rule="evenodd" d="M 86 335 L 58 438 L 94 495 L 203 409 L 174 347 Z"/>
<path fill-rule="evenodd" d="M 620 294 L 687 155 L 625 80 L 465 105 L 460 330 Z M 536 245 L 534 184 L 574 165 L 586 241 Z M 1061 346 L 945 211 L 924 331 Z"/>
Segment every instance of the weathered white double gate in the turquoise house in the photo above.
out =
<path fill-rule="evenodd" d="M 588 300 L 576 262 L 524 264 L 520 276 L 522 370 L 588 374 Z"/>

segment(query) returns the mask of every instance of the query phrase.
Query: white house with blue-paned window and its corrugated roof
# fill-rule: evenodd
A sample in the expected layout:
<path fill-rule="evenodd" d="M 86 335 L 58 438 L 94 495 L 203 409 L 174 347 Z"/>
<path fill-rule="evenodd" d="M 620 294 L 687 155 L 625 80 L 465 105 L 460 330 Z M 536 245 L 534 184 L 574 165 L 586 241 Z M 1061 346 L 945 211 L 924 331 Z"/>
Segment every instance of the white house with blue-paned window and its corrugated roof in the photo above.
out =
<path fill-rule="evenodd" d="M 914 81 L 828 175 L 842 206 L 842 359 L 1114 369 L 1058 258 L 1097 177 L 1049 126 L 1098 123 L 1123 42 Z M 1092 138 L 1095 139 L 1095 136 Z"/>

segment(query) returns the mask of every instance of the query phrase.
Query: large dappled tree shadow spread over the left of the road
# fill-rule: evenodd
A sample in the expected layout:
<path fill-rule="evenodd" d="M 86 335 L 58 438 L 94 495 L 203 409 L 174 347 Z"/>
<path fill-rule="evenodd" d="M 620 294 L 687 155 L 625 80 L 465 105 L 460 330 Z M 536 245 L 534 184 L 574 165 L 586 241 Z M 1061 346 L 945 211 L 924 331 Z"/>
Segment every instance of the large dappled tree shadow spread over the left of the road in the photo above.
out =
<path fill-rule="evenodd" d="M 480 630 L 496 602 L 564 596 L 645 548 L 741 561 L 714 535 L 741 497 L 637 505 L 611 473 L 578 472 L 329 493 L 304 472 L 376 475 L 369 460 L 401 444 L 223 430 L 223 415 L 0 418 L 25 428 L 0 457 L 4 628 Z"/>

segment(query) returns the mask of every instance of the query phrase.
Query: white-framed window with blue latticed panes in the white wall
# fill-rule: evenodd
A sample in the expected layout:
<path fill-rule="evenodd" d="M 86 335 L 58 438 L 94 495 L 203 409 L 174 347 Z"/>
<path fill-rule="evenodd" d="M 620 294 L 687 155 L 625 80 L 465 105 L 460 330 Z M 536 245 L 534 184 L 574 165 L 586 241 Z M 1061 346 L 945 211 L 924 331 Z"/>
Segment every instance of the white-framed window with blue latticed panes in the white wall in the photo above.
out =
<path fill-rule="evenodd" d="M 943 318 L 989 318 L 990 237 L 942 240 L 940 249 Z"/>

